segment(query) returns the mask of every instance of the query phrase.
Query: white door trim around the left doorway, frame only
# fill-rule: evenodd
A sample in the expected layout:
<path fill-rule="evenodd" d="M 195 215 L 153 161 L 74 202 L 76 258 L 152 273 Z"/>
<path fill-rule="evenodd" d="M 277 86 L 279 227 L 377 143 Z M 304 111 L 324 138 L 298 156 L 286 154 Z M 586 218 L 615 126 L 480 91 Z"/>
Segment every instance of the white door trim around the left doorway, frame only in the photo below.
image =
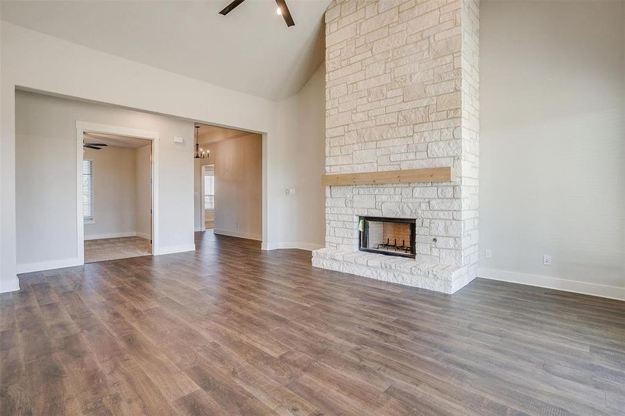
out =
<path fill-rule="evenodd" d="M 109 135 L 137 137 L 139 139 L 147 139 L 152 141 L 152 255 L 155 256 L 159 254 L 159 133 L 150 130 L 139 130 L 136 128 L 122 127 L 119 125 L 89 123 L 87 121 L 76 120 L 76 257 L 78 258 L 78 262 L 80 264 L 85 264 L 85 220 L 83 216 L 83 135 L 85 134 L 85 132 L 97 132 Z"/>

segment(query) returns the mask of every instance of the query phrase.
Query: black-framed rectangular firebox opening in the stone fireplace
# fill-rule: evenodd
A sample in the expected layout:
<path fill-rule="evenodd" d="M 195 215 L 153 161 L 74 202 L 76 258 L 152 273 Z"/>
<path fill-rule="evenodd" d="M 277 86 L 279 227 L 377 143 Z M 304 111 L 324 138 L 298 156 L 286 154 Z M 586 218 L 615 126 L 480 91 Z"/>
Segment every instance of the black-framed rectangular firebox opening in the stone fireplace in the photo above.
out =
<path fill-rule="evenodd" d="M 358 229 L 360 251 L 415 258 L 415 220 L 361 216 Z"/>

